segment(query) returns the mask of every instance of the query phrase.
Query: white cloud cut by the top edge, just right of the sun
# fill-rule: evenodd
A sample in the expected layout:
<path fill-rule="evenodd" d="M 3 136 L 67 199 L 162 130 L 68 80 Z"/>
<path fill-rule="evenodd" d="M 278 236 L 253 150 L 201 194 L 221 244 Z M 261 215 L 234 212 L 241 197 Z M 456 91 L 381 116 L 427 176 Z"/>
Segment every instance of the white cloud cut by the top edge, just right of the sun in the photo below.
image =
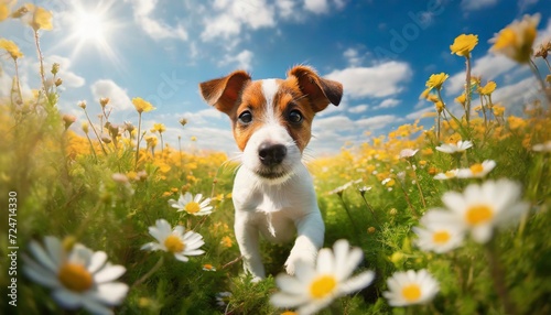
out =
<path fill-rule="evenodd" d="M 132 3 L 136 23 L 153 40 L 174 39 L 186 41 L 187 31 L 182 24 L 171 26 L 152 18 L 159 0 L 126 0 Z"/>

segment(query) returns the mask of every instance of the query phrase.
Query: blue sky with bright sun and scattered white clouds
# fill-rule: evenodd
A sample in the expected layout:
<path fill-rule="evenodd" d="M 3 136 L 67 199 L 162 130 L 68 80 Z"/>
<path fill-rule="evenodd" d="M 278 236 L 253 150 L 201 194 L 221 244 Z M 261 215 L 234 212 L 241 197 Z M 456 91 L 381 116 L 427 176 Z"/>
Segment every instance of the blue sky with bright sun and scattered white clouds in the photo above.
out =
<path fill-rule="evenodd" d="M 97 2 L 97 3 L 96 3 Z M 488 52 L 488 40 L 523 14 L 541 13 L 537 42 L 551 39 L 551 7 L 519 0 L 216 0 L 216 1 L 36 1 L 54 14 L 54 30 L 42 33 L 46 64 L 62 66 L 60 108 L 84 119 L 79 100 L 91 117 L 98 99 L 109 97 L 111 120 L 138 122 L 130 100 L 142 97 L 156 110 L 143 126 L 168 127 L 165 141 L 184 148 L 223 150 L 234 143 L 229 120 L 201 98 L 201 82 L 242 68 L 253 79 L 284 77 L 296 64 L 315 67 L 344 85 L 343 102 L 314 120 L 311 154 L 338 152 L 372 134 L 411 123 L 431 104 L 419 100 L 433 73 L 450 74 L 444 98 L 452 106 L 464 82 L 464 58 L 449 46 L 462 33 L 477 34 L 474 75 L 494 79 L 494 101 L 519 111 L 536 96 L 528 67 Z M 18 43 L 23 88 L 36 88 L 37 59 L 29 28 L 0 23 L 0 36 Z M 1 57 L 0 96 L 11 86 L 13 66 Z M 542 69 L 543 66 L 541 67 Z M 182 128 L 179 119 L 188 123 Z M 432 126 L 432 119 L 422 124 Z M 74 126 L 75 130 L 79 124 Z M 196 137 L 197 141 L 190 140 Z"/>

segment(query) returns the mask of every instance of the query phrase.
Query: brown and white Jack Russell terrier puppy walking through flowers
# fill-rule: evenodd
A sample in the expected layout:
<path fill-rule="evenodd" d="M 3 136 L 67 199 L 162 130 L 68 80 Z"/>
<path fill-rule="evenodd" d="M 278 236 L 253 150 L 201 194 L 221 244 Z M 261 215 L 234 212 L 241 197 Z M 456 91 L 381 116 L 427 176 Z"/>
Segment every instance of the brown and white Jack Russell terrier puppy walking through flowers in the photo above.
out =
<path fill-rule="evenodd" d="M 199 84 L 203 98 L 231 120 L 242 151 L 234 182 L 235 235 L 246 272 L 266 276 L 259 233 L 274 242 L 296 240 L 285 262 L 314 262 L 325 227 L 312 176 L 302 164 L 314 115 L 337 106 L 343 86 L 295 66 L 285 79 L 251 80 L 244 70 Z"/>

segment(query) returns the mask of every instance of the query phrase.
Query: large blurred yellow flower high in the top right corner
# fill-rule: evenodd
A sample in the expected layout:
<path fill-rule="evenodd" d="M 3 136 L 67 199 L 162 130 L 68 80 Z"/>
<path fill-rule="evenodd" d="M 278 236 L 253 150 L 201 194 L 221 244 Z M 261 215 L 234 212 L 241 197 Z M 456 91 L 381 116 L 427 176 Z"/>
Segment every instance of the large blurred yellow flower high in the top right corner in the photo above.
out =
<path fill-rule="evenodd" d="M 518 63 L 528 63 L 539 22 L 540 14 L 525 15 L 522 21 L 514 21 L 490 40 L 490 43 L 494 43 L 490 51 Z"/>

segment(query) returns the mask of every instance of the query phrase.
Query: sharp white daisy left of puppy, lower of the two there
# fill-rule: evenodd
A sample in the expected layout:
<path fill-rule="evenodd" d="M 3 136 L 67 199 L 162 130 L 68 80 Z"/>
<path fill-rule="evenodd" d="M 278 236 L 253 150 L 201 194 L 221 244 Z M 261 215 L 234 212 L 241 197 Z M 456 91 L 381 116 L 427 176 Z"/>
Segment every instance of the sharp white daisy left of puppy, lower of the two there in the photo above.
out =
<path fill-rule="evenodd" d="M 149 227 L 149 233 L 156 239 L 158 242 L 148 242 L 142 246 L 142 250 L 163 250 L 171 252 L 180 261 L 188 261 L 188 256 L 203 254 L 201 250 L 205 241 L 199 233 L 187 231 L 184 233 L 183 226 L 176 226 L 172 229 L 171 225 L 165 219 L 155 221 L 155 226 Z"/>

